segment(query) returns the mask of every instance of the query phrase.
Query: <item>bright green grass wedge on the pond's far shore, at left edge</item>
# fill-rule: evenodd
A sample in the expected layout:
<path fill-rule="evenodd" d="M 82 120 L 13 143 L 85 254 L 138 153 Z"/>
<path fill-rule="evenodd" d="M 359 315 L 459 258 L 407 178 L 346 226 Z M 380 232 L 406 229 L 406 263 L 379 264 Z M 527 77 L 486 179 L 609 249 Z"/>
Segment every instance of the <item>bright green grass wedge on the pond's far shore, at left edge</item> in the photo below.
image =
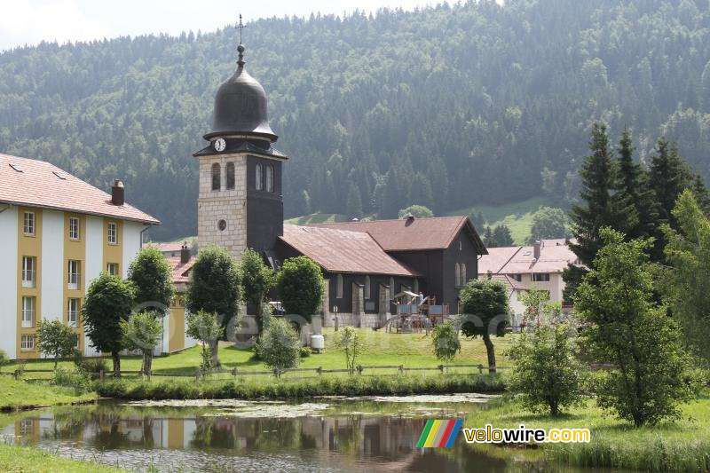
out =
<path fill-rule="evenodd" d="M 16 381 L 12 376 L 0 377 L 0 410 L 28 406 L 53 406 L 95 398 L 93 394 L 75 395 L 73 388 L 49 386 L 44 382 Z"/>

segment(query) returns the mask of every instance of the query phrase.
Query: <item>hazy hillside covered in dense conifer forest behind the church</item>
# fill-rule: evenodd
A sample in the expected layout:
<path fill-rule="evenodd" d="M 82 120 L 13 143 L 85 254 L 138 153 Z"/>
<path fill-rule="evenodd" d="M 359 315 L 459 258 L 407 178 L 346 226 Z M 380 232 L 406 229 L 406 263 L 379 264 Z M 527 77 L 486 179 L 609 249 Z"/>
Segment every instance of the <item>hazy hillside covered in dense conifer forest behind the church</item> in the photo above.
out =
<path fill-rule="evenodd" d="M 708 0 L 510 0 L 375 16 L 258 20 L 247 68 L 290 161 L 286 215 L 576 194 L 591 123 L 660 135 L 710 174 Z M 274 12 L 276 13 L 276 12 Z M 237 32 L 0 55 L 0 152 L 34 157 L 195 233 L 196 163 Z M 0 183 L 2 185 L 2 183 Z M 359 205 L 358 205 L 359 204 Z"/>

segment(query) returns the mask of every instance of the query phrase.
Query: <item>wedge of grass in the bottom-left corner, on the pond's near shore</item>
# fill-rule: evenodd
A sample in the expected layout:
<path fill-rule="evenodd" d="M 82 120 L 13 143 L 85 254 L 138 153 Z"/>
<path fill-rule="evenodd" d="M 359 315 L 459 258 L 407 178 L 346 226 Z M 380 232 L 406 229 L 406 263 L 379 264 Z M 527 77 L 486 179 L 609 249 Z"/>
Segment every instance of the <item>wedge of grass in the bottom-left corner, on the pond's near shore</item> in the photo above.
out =
<path fill-rule="evenodd" d="M 122 473 L 92 461 L 76 461 L 44 452 L 38 448 L 0 445 L 0 471 L 35 473 Z"/>

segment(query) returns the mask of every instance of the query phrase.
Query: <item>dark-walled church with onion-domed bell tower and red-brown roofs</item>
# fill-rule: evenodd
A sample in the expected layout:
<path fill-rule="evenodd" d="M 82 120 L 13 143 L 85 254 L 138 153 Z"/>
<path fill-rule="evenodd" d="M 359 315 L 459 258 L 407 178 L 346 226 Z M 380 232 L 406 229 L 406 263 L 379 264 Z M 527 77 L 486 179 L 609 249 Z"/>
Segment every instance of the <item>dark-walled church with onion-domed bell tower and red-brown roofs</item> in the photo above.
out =
<path fill-rule="evenodd" d="M 199 162 L 199 246 L 218 245 L 237 259 L 254 248 L 275 271 L 288 257 L 309 256 L 327 280 L 324 326 L 337 314 L 341 324 L 382 327 L 400 310 L 396 300 L 407 295 L 458 313 L 459 292 L 477 277 L 478 259 L 487 254 L 469 217 L 284 225 L 288 157 L 274 147 L 278 136 L 266 94 L 246 70 L 244 46 L 237 51 L 236 71 L 217 90 L 212 128 L 204 135 L 208 144 L 193 154 Z"/>

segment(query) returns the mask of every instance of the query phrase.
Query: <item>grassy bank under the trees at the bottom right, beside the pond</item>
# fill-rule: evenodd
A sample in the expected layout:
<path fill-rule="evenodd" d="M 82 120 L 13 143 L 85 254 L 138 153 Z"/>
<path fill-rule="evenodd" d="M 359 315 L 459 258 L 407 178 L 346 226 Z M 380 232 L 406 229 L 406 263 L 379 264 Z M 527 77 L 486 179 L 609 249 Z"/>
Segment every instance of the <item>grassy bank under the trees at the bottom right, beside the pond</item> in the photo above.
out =
<path fill-rule="evenodd" d="M 593 400 L 553 418 L 526 414 L 514 401 L 494 401 L 477 413 L 476 425 L 528 428 L 588 428 L 588 444 L 548 444 L 542 450 L 549 461 L 605 469 L 646 471 L 710 471 L 710 392 L 683 406 L 682 420 L 635 429 L 604 413 Z M 480 447 L 478 447 L 480 448 Z M 483 447 L 488 450 L 500 448 Z"/>

